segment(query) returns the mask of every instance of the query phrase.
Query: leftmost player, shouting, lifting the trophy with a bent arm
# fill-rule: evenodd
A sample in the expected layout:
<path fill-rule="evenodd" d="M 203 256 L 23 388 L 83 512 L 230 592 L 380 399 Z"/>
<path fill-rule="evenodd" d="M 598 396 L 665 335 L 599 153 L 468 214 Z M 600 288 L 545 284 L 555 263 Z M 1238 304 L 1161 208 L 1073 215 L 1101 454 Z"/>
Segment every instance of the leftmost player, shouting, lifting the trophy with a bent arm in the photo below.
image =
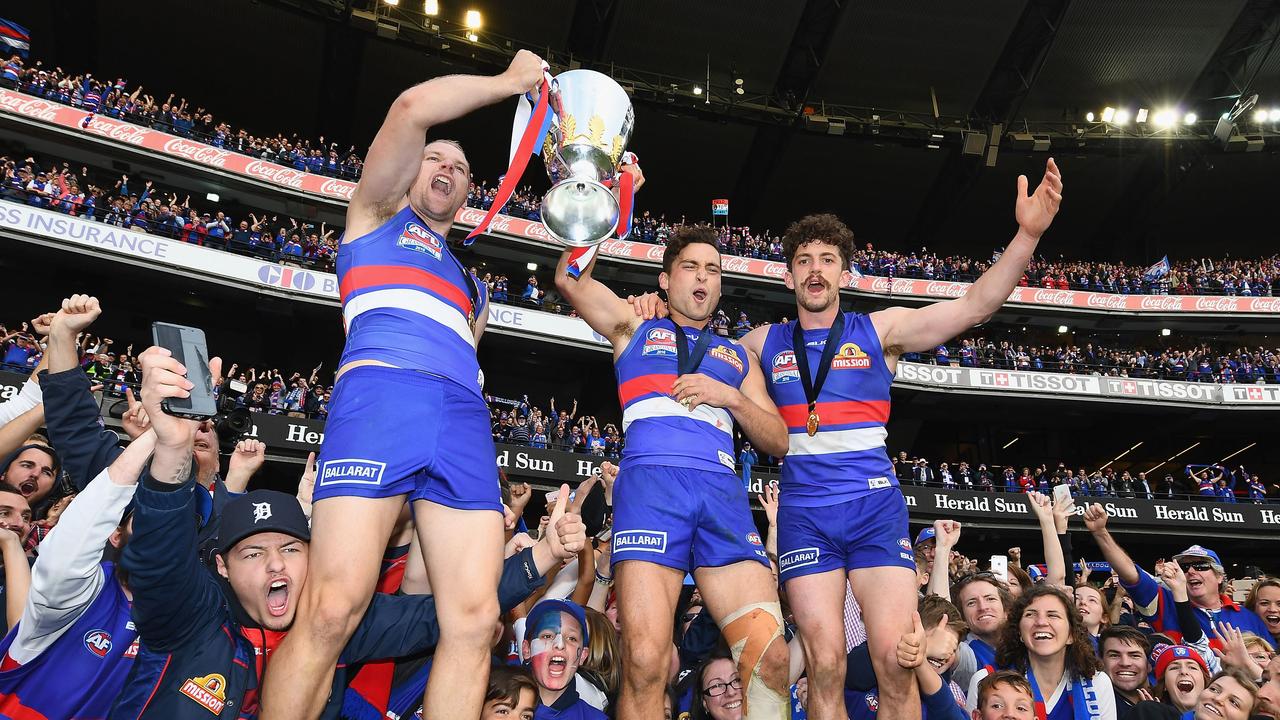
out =
<path fill-rule="evenodd" d="M 502 74 L 411 87 L 369 149 L 338 250 L 347 343 L 320 450 L 310 580 L 266 680 L 264 720 L 319 715 L 406 498 L 442 628 L 424 716 L 480 715 L 503 544 L 476 360 L 488 299 L 445 240 L 467 197 L 466 154 L 424 137 L 543 77 L 541 59 L 521 50 Z"/>

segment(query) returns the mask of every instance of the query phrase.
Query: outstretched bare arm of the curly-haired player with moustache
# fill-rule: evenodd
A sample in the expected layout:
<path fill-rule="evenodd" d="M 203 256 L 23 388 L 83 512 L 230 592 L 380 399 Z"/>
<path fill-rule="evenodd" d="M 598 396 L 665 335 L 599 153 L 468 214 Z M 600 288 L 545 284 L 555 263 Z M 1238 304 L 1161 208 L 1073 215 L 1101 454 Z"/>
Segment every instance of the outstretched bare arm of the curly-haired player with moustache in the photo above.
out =
<path fill-rule="evenodd" d="M 1018 286 L 1027 263 L 1036 252 L 1036 245 L 1053 222 L 1061 202 L 1062 178 L 1052 158 L 1046 164 L 1044 179 L 1034 195 L 1027 195 L 1027 176 L 1018 176 L 1018 234 L 1005 247 L 1000 260 L 955 300 L 919 309 L 888 307 L 872 313 L 872 323 L 884 354 L 897 356 L 933 350 L 989 320 Z"/>

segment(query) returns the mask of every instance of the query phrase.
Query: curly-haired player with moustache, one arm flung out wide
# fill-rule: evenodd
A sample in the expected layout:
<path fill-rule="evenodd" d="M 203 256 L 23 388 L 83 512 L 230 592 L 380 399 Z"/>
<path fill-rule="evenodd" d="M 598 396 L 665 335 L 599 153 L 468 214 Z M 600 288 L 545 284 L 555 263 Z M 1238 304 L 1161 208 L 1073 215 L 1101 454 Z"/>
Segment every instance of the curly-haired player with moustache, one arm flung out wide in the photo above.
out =
<path fill-rule="evenodd" d="M 782 238 L 783 282 L 797 319 L 742 338 L 763 363 L 769 393 L 790 433 L 778 507 L 781 579 L 804 637 L 809 716 L 844 716 L 846 583 L 863 609 L 881 712 L 919 717 L 911 673 L 896 661 L 911 630 L 915 564 L 906 503 L 884 450 L 890 383 L 904 352 L 923 352 L 987 322 L 1004 305 L 1061 202 L 1050 159 L 1027 193 L 1018 178 L 1018 234 L 1000 260 L 955 300 L 920 309 L 844 313 L 840 288 L 852 281 L 852 232 L 835 215 L 810 215 Z"/>

